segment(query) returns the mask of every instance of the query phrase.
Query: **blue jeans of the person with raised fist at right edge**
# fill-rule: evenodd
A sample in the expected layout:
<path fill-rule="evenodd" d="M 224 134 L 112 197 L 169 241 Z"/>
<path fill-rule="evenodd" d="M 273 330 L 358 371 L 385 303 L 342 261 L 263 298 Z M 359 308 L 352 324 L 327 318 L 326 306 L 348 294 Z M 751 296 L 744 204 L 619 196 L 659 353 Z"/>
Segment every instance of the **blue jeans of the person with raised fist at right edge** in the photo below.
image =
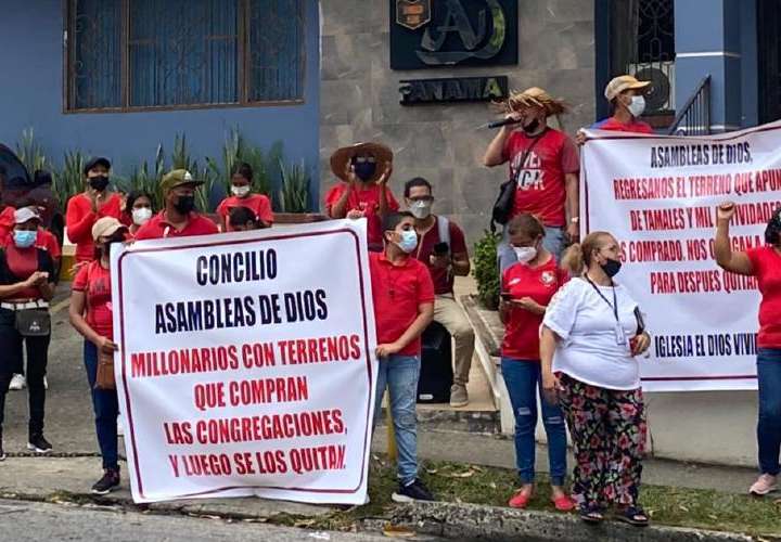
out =
<path fill-rule="evenodd" d="M 759 470 L 777 476 L 781 452 L 781 349 L 759 349 L 757 352 L 759 382 L 759 418 L 757 443 Z"/>

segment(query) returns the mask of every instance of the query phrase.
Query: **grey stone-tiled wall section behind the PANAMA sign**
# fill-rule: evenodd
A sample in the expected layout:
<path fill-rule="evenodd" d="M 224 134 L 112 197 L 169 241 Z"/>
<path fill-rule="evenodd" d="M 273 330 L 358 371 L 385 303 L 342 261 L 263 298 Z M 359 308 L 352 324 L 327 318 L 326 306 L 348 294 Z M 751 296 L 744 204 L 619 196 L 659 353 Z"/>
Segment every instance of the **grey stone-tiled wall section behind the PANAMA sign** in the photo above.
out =
<path fill-rule="evenodd" d="M 563 117 L 574 133 L 594 116 L 593 0 L 518 2 L 518 64 L 486 68 L 394 72 L 389 67 L 387 0 L 322 2 L 320 115 L 321 194 L 336 179 L 328 159 L 340 146 L 364 140 L 396 153 L 390 188 L 422 176 L 434 184 L 435 212 L 448 215 L 477 241 L 504 167 L 487 169 L 482 156 L 496 132 L 476 128 L 492 118 L 487 104 L 401 106 L 399 79 L 508 75 L 510 88 L 538 86 L 574 107 Z"/>

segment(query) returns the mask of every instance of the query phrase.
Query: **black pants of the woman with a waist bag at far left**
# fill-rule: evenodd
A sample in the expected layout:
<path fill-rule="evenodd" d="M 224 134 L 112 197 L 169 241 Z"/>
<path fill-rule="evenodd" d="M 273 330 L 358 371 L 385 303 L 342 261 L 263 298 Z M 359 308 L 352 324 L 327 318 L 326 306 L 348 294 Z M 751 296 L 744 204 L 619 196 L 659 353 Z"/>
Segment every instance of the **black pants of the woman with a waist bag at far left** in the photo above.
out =
<path fill-rule="evenodd" d="M 16 313 L 0 309 L 0 430 L 5 418 L 5 395 L 16 367 L 22 363 L 23 347 L 27 349 L 27 392 L 29 395 L 29 435 L 43 433 L 46 389 L 43 375 L 49 362 L 50 335 L 23 337 L 16 331 Z"/>

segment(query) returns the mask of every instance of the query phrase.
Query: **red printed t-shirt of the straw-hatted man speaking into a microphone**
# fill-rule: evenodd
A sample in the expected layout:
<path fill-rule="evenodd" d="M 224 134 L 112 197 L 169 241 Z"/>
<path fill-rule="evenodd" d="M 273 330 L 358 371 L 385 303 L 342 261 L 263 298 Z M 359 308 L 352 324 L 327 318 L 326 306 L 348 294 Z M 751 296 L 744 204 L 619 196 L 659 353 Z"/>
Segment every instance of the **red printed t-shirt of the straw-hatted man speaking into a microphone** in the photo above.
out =
<path fill-rule="evenodd" d="M 566 173 L 580 169 L 575 143 L 563 132 L 548 128 L 538 136 L 530 152 L 526 150 L 535 138 L 516 130 L 504 144 L 503 157 L 510 162 L 510 178 L 517 179 L 512 216 L 530 212 L 545 225 L 563 228 L 566 224 Z M 526 156 L 524 164 L 520 162 Z"/>

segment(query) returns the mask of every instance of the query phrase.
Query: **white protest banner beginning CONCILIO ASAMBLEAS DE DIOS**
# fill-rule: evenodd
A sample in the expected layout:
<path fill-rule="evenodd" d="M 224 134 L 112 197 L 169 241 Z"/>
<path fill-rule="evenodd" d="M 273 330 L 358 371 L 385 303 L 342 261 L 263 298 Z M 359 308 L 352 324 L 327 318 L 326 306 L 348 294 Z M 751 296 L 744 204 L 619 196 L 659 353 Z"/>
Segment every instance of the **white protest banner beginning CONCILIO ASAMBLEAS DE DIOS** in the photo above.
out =
<path fill-rule="evenodd" d="M 112 282 L 136 502 L 364 502 L 364 221 L 139 242 L 112 253 Z"/>

